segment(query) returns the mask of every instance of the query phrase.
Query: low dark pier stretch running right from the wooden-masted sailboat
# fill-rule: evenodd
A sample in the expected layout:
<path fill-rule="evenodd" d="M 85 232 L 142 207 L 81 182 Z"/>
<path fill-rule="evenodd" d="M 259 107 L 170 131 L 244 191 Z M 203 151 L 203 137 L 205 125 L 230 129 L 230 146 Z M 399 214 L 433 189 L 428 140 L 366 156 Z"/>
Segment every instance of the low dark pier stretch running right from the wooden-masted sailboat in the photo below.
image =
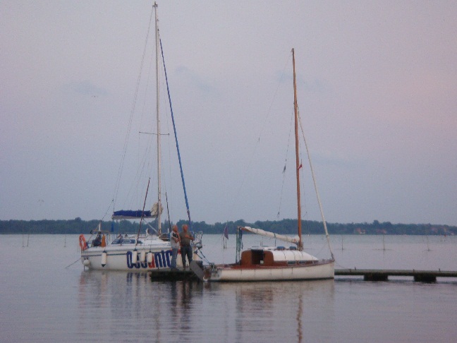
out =
<path fill-rule="evenodd" d="M 437 277 L 457 278 L 457 272 L 441 270 L 336 269 L 335 276 L 362 276 L 365 281 L 389 281 L 389 277 L 413 277 L 415 282 L 437 282 Z"/>

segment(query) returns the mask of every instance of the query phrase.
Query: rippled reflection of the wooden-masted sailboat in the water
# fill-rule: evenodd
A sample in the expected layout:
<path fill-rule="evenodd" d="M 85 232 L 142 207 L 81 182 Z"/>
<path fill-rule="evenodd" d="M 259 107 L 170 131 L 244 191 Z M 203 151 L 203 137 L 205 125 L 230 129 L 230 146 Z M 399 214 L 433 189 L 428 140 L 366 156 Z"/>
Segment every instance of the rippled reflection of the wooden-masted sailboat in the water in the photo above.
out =
<path fill-rule="evenodd" d="M 224 311 L 224 320 L 210 318 L 224 330 L 226 342 L 249 337 L 284 337 L 303 342 L 334 320 L 334 281 L 208 284 L 205 297 Z M 233 302 L 232 302 L 233 300 Z M 233 303 L 233 306 L 231 306 Z"/>

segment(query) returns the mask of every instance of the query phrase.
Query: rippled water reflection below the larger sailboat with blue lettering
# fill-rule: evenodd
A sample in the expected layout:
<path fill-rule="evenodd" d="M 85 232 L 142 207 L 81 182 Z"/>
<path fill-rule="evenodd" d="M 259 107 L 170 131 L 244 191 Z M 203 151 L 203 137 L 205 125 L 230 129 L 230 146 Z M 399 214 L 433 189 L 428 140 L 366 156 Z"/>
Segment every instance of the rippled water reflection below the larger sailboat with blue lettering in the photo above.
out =
<path fill-rule="evenodd" d="M 193 337 L 201 297 L 198 282 L 151 282 L 147 272 L 85 271 L 80 274 L 78 327 L 87 339 L 101 334 L 157 342 Z"/>

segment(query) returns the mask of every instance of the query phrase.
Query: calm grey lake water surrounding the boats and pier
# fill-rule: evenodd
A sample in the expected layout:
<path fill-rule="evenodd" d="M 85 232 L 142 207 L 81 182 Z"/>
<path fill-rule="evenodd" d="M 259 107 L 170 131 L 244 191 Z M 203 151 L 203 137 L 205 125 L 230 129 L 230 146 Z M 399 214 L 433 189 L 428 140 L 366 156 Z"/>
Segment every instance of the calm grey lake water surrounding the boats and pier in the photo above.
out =
<path fill-rule="evenodd" d="M 457 282 L 203 284 L 84 272 L 78 236 L 1 235 L 1 342 L 455 342 Z M 234 236 L 204 236 L 215 262 Z M 245 236 L 245 246 L 260 243 Z M 263 243 L 268 243 L 264 239 Z M 457 237 L 334 236 L 336 267 L 456 270 Z M 28 246 L 27 246 L 28 245 Z M 307 237 L 319 255 L 322 237 Z M 325 256 L 323 256 L 325 257 Z M 66 266 L 71 265 L 66 268 Z"/>

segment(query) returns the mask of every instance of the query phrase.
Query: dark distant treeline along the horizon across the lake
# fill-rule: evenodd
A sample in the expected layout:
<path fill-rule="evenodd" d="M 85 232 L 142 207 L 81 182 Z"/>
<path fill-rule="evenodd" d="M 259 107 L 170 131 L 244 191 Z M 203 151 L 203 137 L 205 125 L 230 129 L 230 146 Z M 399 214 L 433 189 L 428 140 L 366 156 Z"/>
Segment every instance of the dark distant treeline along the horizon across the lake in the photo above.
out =
<path fill-rule="evenodd" d="M 187 223 L 180 220 L 176 224 L 181 229 L 182 224 Z M 324 232 L 322 222 L 303 220 L 303 234 L 322 234 Z M 98 220 L 85 221 L 81 218 L 72 220 L 0 220 L 0 234 L 89 234 L 91 230 L 97 229 Z M 102 222 L 102 230 L 114 233 L 132 234 L 138 232 L 138 222 L 121 220 L 119 222 Z M 173 225 L 173 223 L 171 223 Z M 162 224 L 162 231 L 171 227 L 169 222 Z M 245 222 L 243 219 L 236 222 L 225 222 L 207 224 L 206 222 L 193 222 L 193 231 L 203 231 L 204 234 L 222 234 L 227 226 L 229 234 L 236 232 L 238 226 L 255 227 L 272 231 L 277 234 L 296 234 L 297 222 L 294 219 L 282 219 L 274 221 L 255 223 Z M 145 232 L 147 225 L 143 222 L 142 232 Z M 457 234 L 457 227 L 437 224 L 392 224 L 391 222 L 372 223 L 327 223 L 329 234 L 418 234 L 418 235 L 454 235 Z"/>

